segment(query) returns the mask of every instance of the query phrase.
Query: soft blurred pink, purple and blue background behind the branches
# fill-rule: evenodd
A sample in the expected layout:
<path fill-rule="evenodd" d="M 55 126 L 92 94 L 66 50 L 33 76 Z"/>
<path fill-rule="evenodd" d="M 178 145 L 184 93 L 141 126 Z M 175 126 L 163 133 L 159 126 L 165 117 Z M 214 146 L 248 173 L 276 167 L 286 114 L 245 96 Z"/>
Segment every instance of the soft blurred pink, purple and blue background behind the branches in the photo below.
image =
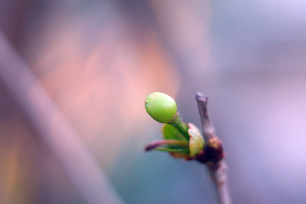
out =
<path fill-rule="evenodd" d="M 0 29 L 125 203 L 216 203 L 203 165 L 143 152 L 155 91 L 198 127 L 208 95 L 233 203 L 305 202 L 305 1 L 1 0 Z M 16 98 L 0 80 L 0 203 L 88 203 Z"/>

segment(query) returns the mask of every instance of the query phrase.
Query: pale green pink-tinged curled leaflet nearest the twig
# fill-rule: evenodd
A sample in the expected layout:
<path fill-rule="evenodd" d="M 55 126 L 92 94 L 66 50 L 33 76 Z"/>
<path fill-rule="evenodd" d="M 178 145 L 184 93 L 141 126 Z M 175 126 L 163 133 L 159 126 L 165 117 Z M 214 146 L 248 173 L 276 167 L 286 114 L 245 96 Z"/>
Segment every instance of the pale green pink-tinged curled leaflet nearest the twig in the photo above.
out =
<path fill-rule="evenodd" d="M 189 129 L 188 133 L 190 136 L 189 139 L 189 149 L 190 157 L 198 154 L 204 147 L 204 139 L 200 133 L 200 130 L 192 123 L 188 123 Z"/>

